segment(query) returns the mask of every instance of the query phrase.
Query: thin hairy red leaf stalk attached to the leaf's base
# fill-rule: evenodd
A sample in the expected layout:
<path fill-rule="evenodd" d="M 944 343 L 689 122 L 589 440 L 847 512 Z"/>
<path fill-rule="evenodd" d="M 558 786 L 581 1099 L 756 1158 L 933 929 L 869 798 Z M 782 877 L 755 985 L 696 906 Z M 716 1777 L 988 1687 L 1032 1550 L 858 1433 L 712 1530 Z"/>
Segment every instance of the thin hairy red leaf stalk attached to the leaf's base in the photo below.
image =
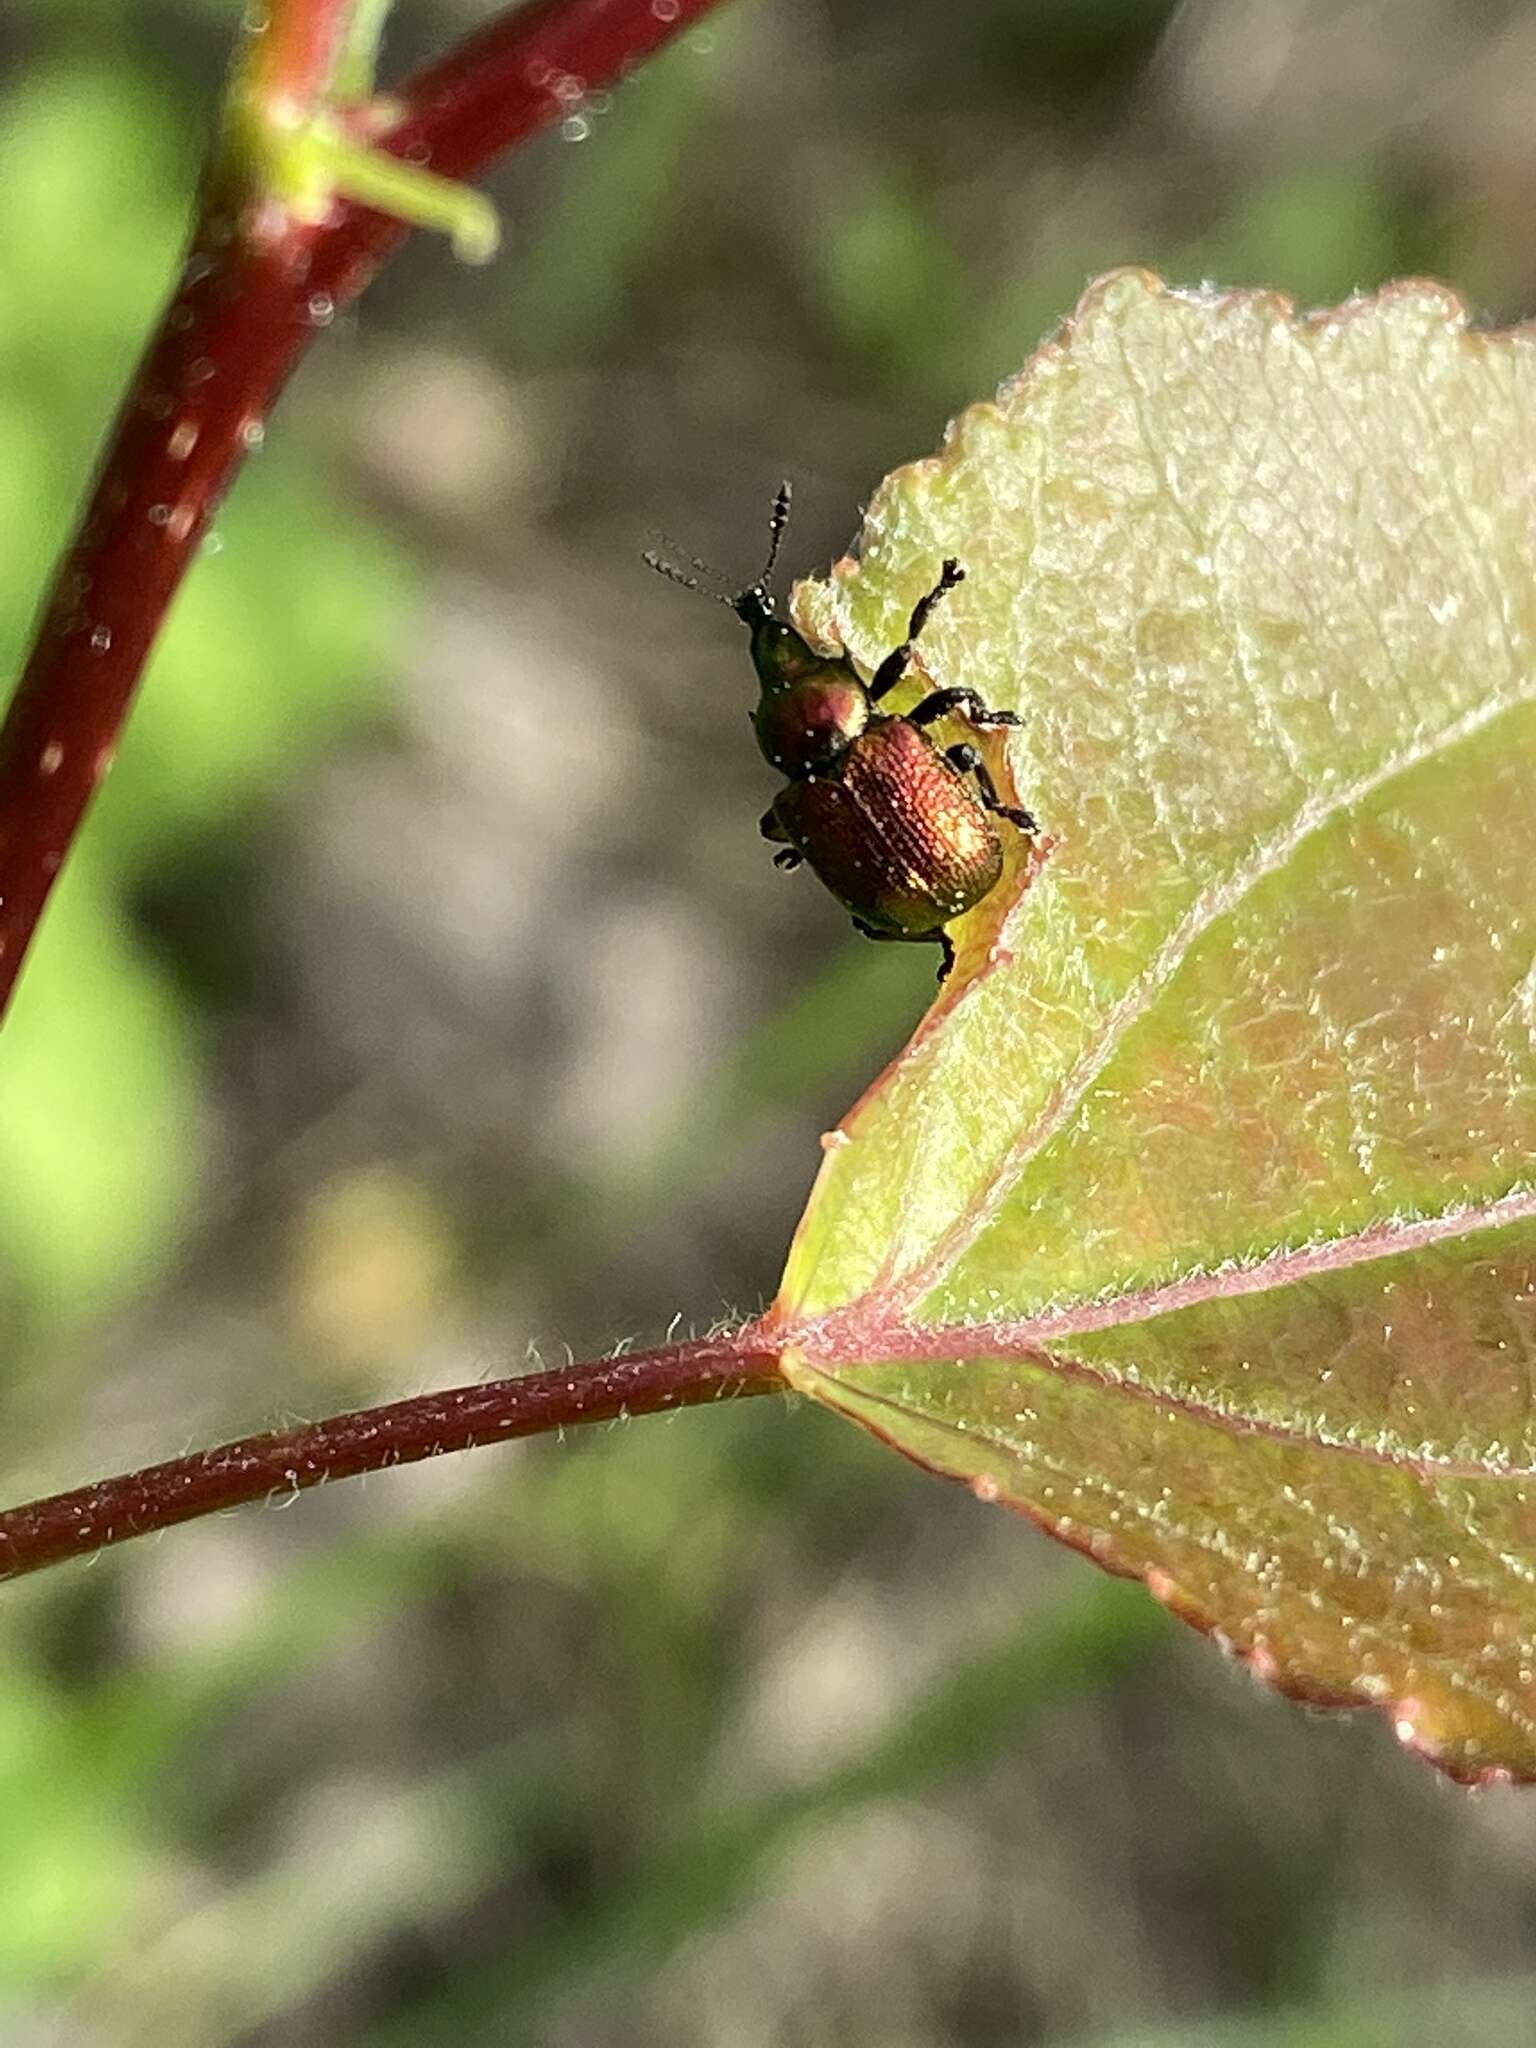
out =
<path fill-rule="evenodd" d="M 190 1458 L 6 1509 L 0 1513 L 0 1579 L 20 1579 L 68 1556 L 86 1556 L 221 1507 L 301 1493 L 328 1479 L 383 1473 L 449 1450 L 479 1450 L 584 1421 L 770 1393 L 784 1393 L 776 1354 L 754 1346 L 745 1329 L 559 1372 L 416 1395 L 301 1430 L 244 1436 Z"/>

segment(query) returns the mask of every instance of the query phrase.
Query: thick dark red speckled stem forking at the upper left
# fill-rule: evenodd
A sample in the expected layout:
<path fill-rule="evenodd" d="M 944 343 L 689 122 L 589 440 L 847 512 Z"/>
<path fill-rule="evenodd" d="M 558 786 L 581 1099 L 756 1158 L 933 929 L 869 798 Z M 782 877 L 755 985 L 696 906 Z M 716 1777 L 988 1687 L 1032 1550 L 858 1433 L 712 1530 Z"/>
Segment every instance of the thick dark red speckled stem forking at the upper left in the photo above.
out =
<path fill-rule="evenodd" d="M 393 94 L 383 147 L 469 176 L 713 4 L 535 0 Z M 336 0 L 289 0 L 274 23 L 283 86 L 301 104 L 324 90 L 336 18 Z M 0 727 L 0 1012 L 209 518 L 305 344 L 403 233 L 365 207 L 311 225 L 227 174 L 209 184 Z"/>

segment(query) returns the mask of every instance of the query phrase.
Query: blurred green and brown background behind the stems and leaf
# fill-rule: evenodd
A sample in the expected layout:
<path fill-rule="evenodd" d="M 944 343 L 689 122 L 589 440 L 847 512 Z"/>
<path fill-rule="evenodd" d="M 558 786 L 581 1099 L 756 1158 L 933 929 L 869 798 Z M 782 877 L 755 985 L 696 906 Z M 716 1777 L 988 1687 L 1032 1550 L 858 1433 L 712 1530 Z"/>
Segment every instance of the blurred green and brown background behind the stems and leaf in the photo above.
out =
<path fill-rule="evenodd" d="M 399 76 L 489 12 L 401 0 Z M 0 14 L 0 674 L 238 0 Z M 217 522 L 0 1059 L 8 1499 L 705 1329 L 932 961 L 756 819 L 823 565 L 1116 262 L 1536 303 L 1536 6 L 735 0 L 418 240 Z M 1262 1694 L 807 1407 L 444 1460 L 0 1599 L 6 2048 L 1536 2040 L 1536 1794 Z"/>

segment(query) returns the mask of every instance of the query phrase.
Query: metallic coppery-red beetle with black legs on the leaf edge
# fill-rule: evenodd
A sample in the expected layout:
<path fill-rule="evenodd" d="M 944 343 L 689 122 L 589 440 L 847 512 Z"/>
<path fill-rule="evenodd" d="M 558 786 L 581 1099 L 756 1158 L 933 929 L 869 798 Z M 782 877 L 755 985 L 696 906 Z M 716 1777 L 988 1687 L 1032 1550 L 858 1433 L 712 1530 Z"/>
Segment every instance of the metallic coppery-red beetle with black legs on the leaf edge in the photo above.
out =
<path fill-rule="evenodd" d="M 1001 803 L 971 745 L 940 750 L 928 727 L 956 711 L 971 725 L 1022 725 L 1012 711 L 991 711 L 975 690 L 932 690 L 903 717 L 874 707 L 907 674 L 911 649 L 934 606 L 965 580 L 946 561 L 907 623 L 907 637 L 864 682 L 846 653 L 817 653 L 795 627 L 774 616 L 768 578 L 788 524 L 788 483 L 780 483 L 768 537 L 768 561 L 729 604 L 752 633 L 758 709 L 752 725 L 768 762 L 788 780 L 762 817 L 782 868 L 803 860 L 868 938 L 926 940 L 942 948 L 938 979 L 954 963 L 944 926 L 973 909 L 1004 870 L 993 819 L 1034 831 L 1028 811 Z M 705 586 L 659 555 L 645 557 L 688 590 Z M 700 565 L 702 567 L 702 565 Z"/>

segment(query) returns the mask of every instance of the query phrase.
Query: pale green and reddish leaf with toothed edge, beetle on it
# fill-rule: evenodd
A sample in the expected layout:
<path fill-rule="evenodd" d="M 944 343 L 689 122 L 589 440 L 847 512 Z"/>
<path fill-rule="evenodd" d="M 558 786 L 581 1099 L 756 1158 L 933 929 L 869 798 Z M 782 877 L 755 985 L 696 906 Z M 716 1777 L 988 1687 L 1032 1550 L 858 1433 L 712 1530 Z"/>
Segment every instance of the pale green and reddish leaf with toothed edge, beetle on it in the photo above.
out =
<path fill-rule="evenodd" d="M 1536 1776 L 1536 334 L 1102 281 L 799 618 L 1040 856 L 834 1135 L 795 1382 L 1286 1692 Z"/>

